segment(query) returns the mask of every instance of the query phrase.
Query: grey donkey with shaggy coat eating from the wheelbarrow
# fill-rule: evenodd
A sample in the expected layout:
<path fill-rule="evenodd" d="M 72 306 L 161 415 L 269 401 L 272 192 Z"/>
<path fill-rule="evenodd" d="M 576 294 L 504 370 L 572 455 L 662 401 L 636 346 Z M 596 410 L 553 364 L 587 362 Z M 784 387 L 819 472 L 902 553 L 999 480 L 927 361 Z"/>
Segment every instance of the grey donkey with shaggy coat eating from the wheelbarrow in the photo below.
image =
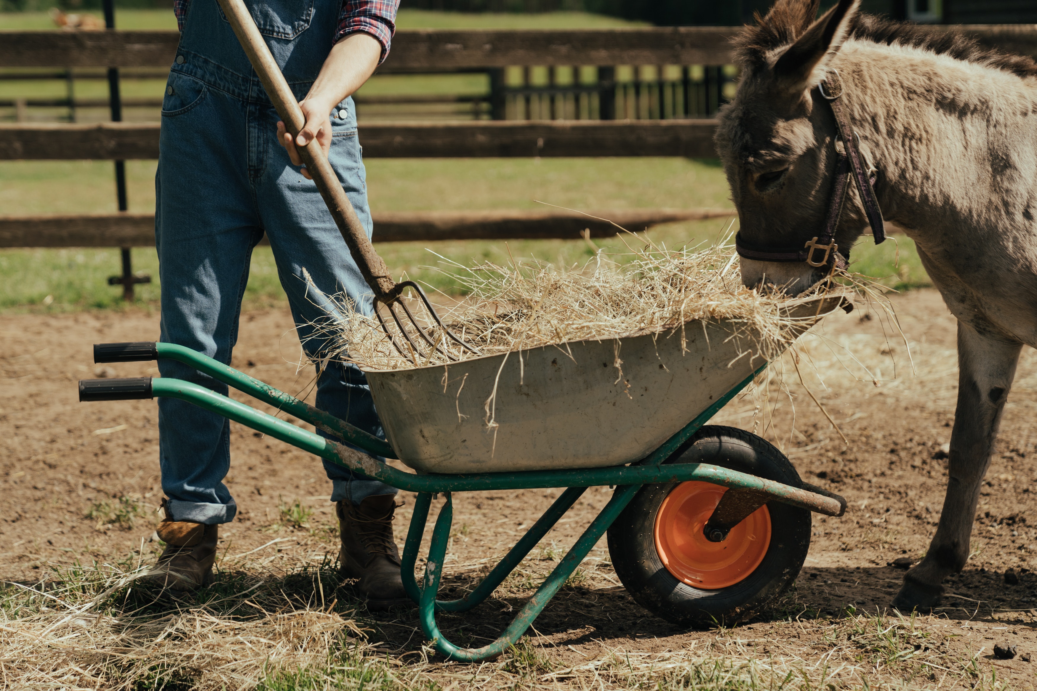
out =
<path fill-rule="evenodd" d="M 802 247 L 820 234 L 832 190 L 836 124 L 816 86 L 838 69 L 862 150 L 879 170 L 884 217 L 916 241 L 958 320 L 947 495 L 925 558 L 893 601 L 928 608 L 969 558 L 1019 351 L 1037 347 L 1037 64 L 860 15 L 859 1 L 815 21 L 817 0 L 779 0 L 744 30 L 742 78 L 719 115 L 717 146 L 745 239 Z M 839 247 L 866 225 L 852 190 Z M 823 269 L 742 259 L 741 272 L 747 286 L 797 293 Z"/>

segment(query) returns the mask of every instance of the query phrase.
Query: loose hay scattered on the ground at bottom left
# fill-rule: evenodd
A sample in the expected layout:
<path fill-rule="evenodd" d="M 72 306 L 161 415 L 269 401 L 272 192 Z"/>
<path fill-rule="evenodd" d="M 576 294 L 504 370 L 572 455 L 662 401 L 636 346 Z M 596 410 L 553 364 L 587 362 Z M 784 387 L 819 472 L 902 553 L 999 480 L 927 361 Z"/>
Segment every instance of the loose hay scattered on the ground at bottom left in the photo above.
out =
<path fill-rule="evenodd" d="M 362 628 L 321 602 L 325 588 L 335 593 L 327 573 L 223 573 L 201 601 L 185 602 L 141 591 L 145 574 L 75 566 L 55 569 L 56 580 L 5 583 L 3 688 L 251 689 L 301 669 L 367 663 Z"/>

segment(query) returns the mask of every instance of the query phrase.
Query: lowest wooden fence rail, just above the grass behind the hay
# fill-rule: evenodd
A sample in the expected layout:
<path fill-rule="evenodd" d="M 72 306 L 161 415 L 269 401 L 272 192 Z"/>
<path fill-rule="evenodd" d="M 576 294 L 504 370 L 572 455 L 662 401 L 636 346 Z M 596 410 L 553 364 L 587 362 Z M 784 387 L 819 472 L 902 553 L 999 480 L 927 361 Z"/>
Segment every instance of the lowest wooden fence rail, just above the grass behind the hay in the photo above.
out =
<path fill-rule="evenodd" d="M 619 230 L 572 211 L 383 211 L 374 214 L 374 241 L 609 237 Z M 679 221 L 725 218 L 733 209 L 623 209 L 597 211 L 629 231 Z M 265 238 L 263 239 L 265 242 Z M 0 248 L 155 247 L 151 213 L 0 217 Z"/>

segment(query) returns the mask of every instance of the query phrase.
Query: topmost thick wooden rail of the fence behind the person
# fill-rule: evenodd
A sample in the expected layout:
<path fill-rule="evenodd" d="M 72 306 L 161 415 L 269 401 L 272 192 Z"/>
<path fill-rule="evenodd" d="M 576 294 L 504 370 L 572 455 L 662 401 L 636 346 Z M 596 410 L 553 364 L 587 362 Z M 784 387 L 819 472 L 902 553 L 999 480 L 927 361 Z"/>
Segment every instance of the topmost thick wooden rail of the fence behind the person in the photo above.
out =
<path fill-rule="evenodd" d="M 508 65 L 727 64 L 740 27 L 552 30 L 400 30 L 380 70 L 435 71 Z M 984 46 L 1037 55 L 1037 25 L 932 26 Z M 0 31 L 3 67 L 168 67 L 176 31 Z"/>

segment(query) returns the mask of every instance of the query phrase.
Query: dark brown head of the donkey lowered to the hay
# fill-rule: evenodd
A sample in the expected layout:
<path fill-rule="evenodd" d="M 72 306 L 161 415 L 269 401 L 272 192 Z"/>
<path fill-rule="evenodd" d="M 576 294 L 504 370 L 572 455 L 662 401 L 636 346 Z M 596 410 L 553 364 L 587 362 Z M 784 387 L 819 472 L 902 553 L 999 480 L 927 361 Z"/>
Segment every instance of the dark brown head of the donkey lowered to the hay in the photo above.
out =
<path fill-rule="evenodd" d="M 719 114 L 717 150 L 751 246 L 796 247 L 821 234 L 835 179 L 836 123 L 818 93 L 847 36 L 860 0 L 840 0 L 823 17 L 819 0 L 778 0 L 737 39 L 741 81 Z M 836 241 L 848 251 L 863 231 L 847 203 Z M 800 293 L 828 272 L 807 262 L 741 258 L 749 287 L 773 284 Z"/>

